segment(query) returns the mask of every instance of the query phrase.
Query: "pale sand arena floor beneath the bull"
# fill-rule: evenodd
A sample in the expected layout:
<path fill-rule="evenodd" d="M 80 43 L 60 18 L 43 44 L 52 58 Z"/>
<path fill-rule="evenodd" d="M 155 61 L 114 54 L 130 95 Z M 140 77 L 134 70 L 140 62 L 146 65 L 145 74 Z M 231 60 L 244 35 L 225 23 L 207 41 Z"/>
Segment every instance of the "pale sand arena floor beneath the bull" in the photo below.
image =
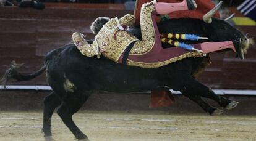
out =
<path fill-rule="evenodd" d="M 1 112 L 0 140 L 45 140 L 42 117 L 40 111 Z M 256 140 L 255 116 L 80 111 L 73 118 L 91 141 Z M 56 113 L 52 132 L 54 140 L 74 140 Z"/>

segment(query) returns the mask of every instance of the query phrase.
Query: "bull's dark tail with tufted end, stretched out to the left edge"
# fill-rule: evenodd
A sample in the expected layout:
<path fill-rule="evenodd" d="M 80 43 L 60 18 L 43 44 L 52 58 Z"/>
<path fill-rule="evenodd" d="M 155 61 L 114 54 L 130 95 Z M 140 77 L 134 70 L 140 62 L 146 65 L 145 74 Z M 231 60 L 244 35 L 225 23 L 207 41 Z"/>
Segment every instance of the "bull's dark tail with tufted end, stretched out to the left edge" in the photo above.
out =
<path fill-rule="evenodd" d="M 35 73 L 28 74 L 28 75 L 23 75 L 22 73 L 19 73 L 18 69 L 22 66 L 23 64 L 17 64 L 15 61 L 11 62 L 11 66 L 8 70 L 6 70 L 6 73 L 0 79 L 0 83 L 6 88 L 6 84 L 8 83 L 9 80 L 12 81 L 28 81 L 30 79 L 36 78 L 36 76 L 40 75 L 45 71 L 46 65 L 40 68 L 40 70 L 36 71 Z"/>

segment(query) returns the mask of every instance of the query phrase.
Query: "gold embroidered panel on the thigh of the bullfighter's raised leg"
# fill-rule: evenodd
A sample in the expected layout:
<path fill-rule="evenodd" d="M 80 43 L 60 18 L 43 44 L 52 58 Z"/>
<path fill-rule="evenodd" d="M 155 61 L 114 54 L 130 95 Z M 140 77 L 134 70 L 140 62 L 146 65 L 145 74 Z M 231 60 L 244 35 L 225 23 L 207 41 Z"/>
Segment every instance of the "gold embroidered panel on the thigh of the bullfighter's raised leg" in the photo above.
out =
<path fill-rule="evenodd" d="M 142 32 L 142 41 L 137 41 L 130 50 L 130 55 L 143 55 L 149 52 L 155 44 L 155 28 L 153 26 L 152 14 L 155 10 L 153 5 L 142 5 L 140 13 L 140 28 Z"/>

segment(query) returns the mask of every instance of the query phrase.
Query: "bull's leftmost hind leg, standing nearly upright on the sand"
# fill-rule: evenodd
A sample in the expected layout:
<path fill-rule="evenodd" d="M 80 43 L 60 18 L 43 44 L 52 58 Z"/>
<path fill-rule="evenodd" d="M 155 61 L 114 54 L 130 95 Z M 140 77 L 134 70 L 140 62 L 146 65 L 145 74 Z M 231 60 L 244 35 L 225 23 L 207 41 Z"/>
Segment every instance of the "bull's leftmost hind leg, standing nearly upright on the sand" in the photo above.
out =
<path fill-rule="evenodd" d="M 53 115 L 53 111 L 56 107 L 61 105 L 61 100 L 56 97 L 54 92 L 47 95 L 43 101 L 44 109 L 43 109 L 43 129 L 42 132 L 45 133 L 45 137 L 51 136 L 51 116 Z"/>

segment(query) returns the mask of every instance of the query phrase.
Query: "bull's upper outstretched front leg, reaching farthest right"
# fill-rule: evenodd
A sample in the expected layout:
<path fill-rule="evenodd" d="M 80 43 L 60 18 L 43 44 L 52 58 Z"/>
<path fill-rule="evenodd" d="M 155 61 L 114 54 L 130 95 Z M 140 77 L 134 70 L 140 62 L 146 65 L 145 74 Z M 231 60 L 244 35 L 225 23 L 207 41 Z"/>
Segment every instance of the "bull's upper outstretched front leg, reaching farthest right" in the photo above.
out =
<path fill-rule="evenodd" d="M 185 86 L 188 92 L 192 92 L 193 94 L 199 94 L 201 97 L 206 97 L 208 99 L 215 100 L 221 107 L 224 107 L 228 110 L 231 108 L 236 107 L 238 102 L 235 102 L 233 100 L 226 99 L 225 97 L 221 97 L 219 95 L 216 95 L 215 92 L 213 92 L 212 89 L 209 87 L 199 83 L 194 78 L 187 77 Z"/>

